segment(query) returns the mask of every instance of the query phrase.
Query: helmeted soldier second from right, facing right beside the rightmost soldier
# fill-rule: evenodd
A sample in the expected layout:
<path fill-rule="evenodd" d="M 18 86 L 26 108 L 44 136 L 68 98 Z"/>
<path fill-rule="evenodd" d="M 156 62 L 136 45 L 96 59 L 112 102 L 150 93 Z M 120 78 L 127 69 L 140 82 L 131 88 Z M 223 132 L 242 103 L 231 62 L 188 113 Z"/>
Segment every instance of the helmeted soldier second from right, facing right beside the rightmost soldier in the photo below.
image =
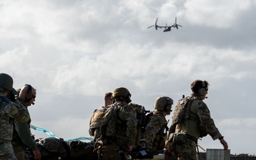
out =
<path fill-rule="evenodd" d="M 144 139 L 146 140 L 146 146 L 150 146 L 154 151 L 164 149 L 164 142 L 167 134 L 164 133 L 167 128 L 166 115 L 171 114 L 171 105 L 174 101 L 170 97 L 160 96 L 157 97 L 154 102 L 153 116 L 150 119 L 149 124 L 146 125 Z"/>

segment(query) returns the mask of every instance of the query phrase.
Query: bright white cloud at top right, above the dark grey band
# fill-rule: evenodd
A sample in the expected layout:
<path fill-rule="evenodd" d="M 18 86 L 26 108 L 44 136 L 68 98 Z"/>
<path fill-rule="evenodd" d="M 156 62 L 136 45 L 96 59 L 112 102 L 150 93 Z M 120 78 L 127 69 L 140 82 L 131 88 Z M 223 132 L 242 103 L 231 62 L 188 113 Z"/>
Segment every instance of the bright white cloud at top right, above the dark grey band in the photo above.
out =
<path fill-rule="evenodd" d="M 186 18 L 193 24 L 230 28 L 238 15 L 252 7 L 252 1 L 186 1 Z"/>

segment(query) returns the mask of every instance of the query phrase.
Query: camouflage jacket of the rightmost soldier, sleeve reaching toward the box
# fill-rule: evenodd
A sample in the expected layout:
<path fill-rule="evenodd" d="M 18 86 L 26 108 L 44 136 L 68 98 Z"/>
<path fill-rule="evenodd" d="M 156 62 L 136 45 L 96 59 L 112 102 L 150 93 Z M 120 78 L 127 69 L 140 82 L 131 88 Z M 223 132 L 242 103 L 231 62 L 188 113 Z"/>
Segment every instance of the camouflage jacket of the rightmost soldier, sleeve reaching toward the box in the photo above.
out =
<path fill-rule="evenodd" d="M 207 134 L 210 134 L 213 140 L 222 137 L 218 128 L 215 127 L 213 119 L 210 117 L 210 110 L 206 103 L 195 94 L 191 94 L 190 97 L 193 97 L 194 100 L 190 107 L 189 117 L 176 126 L 175 132 L 190 134 L 196 137 L 196 139 Z"/>

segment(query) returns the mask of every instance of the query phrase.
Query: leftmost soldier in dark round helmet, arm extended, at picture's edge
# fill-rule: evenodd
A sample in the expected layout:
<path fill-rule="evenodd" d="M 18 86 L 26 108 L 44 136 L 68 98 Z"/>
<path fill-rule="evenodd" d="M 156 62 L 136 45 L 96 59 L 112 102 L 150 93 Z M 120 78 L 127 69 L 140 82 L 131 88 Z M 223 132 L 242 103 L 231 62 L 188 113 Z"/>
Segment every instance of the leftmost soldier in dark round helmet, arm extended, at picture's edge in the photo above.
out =
<path fill-rule="evenodd" d="M 0 159 L 16 160 L 11 145 L 13 134 L 13 119 L 27 122 L 28 110 L 18 101 L 11 102 L 7 95 L 13 89 L 13 79 L 6 73 L 0 73 Z"/>

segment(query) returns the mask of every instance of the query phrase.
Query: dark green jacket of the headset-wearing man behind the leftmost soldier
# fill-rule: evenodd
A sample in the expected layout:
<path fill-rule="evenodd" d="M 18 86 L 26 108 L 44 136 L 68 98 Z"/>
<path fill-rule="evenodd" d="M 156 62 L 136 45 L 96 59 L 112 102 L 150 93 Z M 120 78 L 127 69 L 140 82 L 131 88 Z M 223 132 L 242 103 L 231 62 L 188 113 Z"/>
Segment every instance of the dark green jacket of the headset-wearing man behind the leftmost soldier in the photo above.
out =
<path fill-rule="evenodd" d="M 27 108 L 26 103 L 21 99 L 21 97 L 15 96 L 18 102 L 21 102 L 21 105 Z M 36 143 L 34 142 L 33 137 L 31 136 L 30 130 L 31 119 L 29 118 L 28 122 L 18 122 L 14 121 L 14 133 L 12 144 L 18 146 L 28 146 L 28 148 L 35 151 L 37 149 Z"/>

